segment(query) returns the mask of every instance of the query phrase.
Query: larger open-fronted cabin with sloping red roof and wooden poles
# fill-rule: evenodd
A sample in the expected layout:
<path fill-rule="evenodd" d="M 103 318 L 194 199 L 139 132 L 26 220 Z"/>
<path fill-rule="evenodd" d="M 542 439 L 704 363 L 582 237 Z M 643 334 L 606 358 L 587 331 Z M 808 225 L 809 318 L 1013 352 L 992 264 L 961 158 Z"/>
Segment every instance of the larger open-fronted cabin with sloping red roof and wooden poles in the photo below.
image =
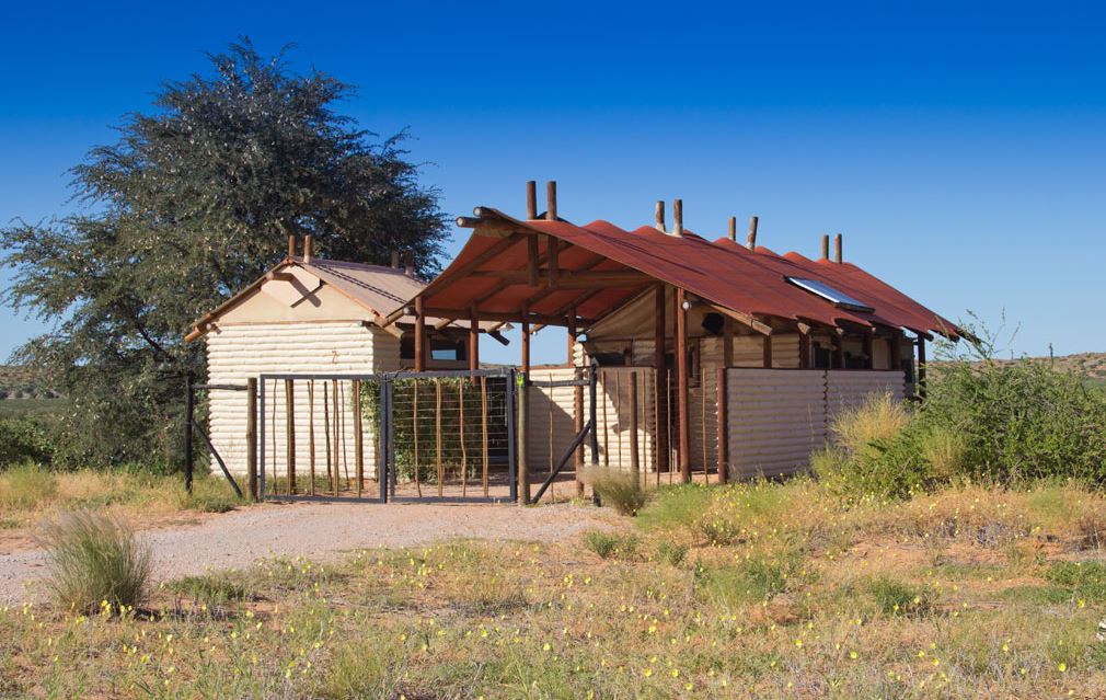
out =
<path fill-rule="evenodd" d="M 565 372 L 597 366 L 603 405 L 599 453 L 593 458 L 585 443 L 577 468 L 594 459 L 625 469 L 626 455 L 636 453 L 643 469 L 671 473 L 678 466 L 685 481 L 693 471 L 708 479 L 796 471 L 824 442 L 836 411 L 872 393 L 912 395 L 924 387 L 926 341 L 960 333 L 845 262 L 839 237 L 834 260 L 828 237 L 820 260 L 758 247 L 755 220 L 748 245 L 735 241 L 732 220 L 729 237 L 709 240 L 684 229 L 679 200 L 670 231 L 662 202 L 654 226 L 577 226 L 557 216 L 555 192 L 551 182 L 541 216 L 530 182 L 524 219 L 489 207 L 459 218 L 473 230 L 465 248 L 387 321 L 415 315 L 417 370 L 429 366 L 428 318 L 518 323 L 525 375 L 530 335 L 566 327 L 573 366 Z M 639 405 L 633 433 L 629 372 Z M 580 391 L 524 394 L 520 458 L 543 468 L 573 437 L 542 446 L 554 441 L 546 409 L 555 405 L 578 428 Z M 520 463 L 520 474 L 529 470 Z"/>

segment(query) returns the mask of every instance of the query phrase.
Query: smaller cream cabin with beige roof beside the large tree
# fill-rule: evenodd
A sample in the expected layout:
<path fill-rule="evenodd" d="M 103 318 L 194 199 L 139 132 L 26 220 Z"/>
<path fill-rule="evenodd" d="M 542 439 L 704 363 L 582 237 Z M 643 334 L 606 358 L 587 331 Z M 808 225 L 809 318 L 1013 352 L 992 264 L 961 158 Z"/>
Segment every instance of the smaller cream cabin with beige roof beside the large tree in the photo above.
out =
<path fill-rule="evenodd" d="M 262 374 L 378 374 L 414 365 L 414 317 L 384 318 L 426 285 L 410 267 L 371 265 L 312 255 L 312 241 L 304 240 L 298 255 L 295 241 L 276 267 L 218 309 L 199 320 L 186 341 L 204 339 L 209 385 L 241 386 Z M 469 366 L 467 322 L 430 323 L 427 339 L 431 369 Z M 494 324 L 484 324 L 488 331 Z M 498 327 L 498 326 L 497 326 Z M 492 335 L 501 342 L 498 332 Z M 474 359 L 474 358 L 473 358 Z M 284 387 L 267 385 L 269 433 L 264 449 L 284 455 L 286 445 Z M 331 455 L 347 467 L 354 453 L 353 400 L 348 383 L 296 382 L 292 400 L 294 424 L 301 435 L 317 436 L 317 456 L 304 439 L 295 441 L 295 459 L 302 470 L 315 457 L 320 469 Z M 330 396 L 334 390 L 338 396 Z M 213 389 L 209 393 L 208 427 L 211 442 L 233 473 L 247 471 L 247 395 Z M 333 408 L 332 408 L 333 407 Z M 309 427 L 310 426 L 310 427 Z M 331 436 L 334 436 L 333 445 Z M 325 436 L 326 446 L 322 447 Z M 366 431 L 365 473 L 375 478 L 375 431 Z M 328 470 L 328 466 L 327 466 Z"/>

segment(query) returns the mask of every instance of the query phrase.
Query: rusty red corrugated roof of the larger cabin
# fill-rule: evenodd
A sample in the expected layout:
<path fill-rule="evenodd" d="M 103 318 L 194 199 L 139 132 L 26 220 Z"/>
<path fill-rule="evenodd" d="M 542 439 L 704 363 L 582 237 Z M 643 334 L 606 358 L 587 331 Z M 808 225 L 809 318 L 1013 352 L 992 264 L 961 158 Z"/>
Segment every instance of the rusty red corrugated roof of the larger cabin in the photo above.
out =
<path fill-rule="evenodd" d="M 499 221 L 502 224 L 500 231 L 518 229 L 545 233 L 571 244 L 559 254 L 562 270 L 635 270 L 752 317 L 772 316 L 827 326 L 843 323 L 860 326 L 881 324 L 927 333 L 945 330 L 933 321 L 924 323 L 927 315 L 935 320 L 940 318 L 939 316 L 855 265 L 848 265 L 852 276 L 845 280 L 839 274 L 823 274 L 816 263 L 806 265 L 770 251 L 752 252 L 729 239 L 712 243 L 690 231 L 677 237 L 653 227 L 627 231 L 603 220 L 576 226 L 560 220 L 522 221 L 484 207 L 479 208 L 479 211 L 490 222 Z M 435 310 L 452 310 L 458 316 L 463 316 L 472 304 L 488 313 L 514 313 L 529 302 L 531 313 L 556 314 L 564 313 L 562 310 L 566 305 L 581 299 L 581 290 L 535 290 L 526 284 L 504 284 L 493 276 L 481 276 L 480 272 L 508 272 L 526 268 L 528 250 L 524 241 L 507 247 L 473 267 L 489 251 L 503 245 L 501 237 L 470 237 L 453 262 L 420 293 L 426 305 Z M 539 254 L 544 257 L 545 253 L 545 242 L 540 241 Z M 461 271 L 467 274 L 461 274 Z M 848 286 L 842 291 L 856 290 L 856 294 L 872 305 L 875 312 L 838 309 L 790 284 L 784 279 L 789 275 L 814 278 L 831 285 Z M 598 318 L 647 286 L 648 284 L 613 285 L 594 292 L 578 301 L 576 313 L 587 320 Z M 951 324 L 948 328 L 952 328 Z"/>

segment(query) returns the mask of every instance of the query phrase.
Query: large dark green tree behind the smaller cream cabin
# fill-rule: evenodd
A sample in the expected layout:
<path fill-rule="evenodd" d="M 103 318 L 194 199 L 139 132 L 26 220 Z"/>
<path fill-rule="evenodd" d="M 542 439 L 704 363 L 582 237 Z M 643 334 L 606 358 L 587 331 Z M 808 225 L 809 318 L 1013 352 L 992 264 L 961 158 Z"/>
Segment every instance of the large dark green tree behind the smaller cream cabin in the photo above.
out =
<path fill-rule="evenodd" d="M 181 378 L 201 374 L 190 323 L 275 264 L 290 234 L 319 255 L 438 269 L 446 224 L 404 134 L 376 140 L 335 111 L 352 87 L 301 75 L 249 40 L 208 74 L 168 82 L 155 108 L 73 168 L 83 213 L 0 230 L 4 301 L 53 322 L 18 349 L 70 399 L 61 453 L 111 463 L 176 447 Z M 157 449 L 160 448 L 160 449 Z"/>

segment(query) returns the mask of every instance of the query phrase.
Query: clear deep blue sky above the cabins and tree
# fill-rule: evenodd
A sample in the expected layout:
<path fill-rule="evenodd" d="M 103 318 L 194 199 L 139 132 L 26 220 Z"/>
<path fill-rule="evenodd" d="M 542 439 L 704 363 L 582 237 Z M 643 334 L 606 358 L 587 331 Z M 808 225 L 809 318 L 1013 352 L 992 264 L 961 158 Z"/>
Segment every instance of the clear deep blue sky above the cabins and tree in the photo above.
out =
<path fill-rule="evenodd" d="M 1093 3 L 64 4 L 4 10 L 3 222 L 67 211 L 65 170 L 121 115 L 248 34 L 358 85 L 364 127 L 409 127 L 451 215 L 521 212 L 526 179 L 559 180 L 571 220 L 624 227 L 679 197 L 688 228 L 755 213 L 781 252 L 839 231 L 947 316 L 1004 309 L 1018 352 L 1106 349 Z M 0 311 L 0 355 L 41 328 Z M 498 347 L 483 358 L 515 359 Z M 535 352 L 562 359 L 563 331 Z"/>

